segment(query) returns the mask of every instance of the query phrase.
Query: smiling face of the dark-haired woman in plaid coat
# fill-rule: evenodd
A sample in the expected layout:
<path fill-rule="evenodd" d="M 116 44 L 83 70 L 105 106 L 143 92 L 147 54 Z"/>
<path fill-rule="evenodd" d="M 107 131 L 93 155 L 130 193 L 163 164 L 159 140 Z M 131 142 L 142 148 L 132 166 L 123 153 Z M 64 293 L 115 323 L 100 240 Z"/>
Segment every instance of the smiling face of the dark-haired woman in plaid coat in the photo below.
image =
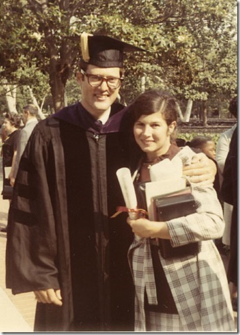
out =
<path fill-rule="evenodd" d="M 165 154 L 170 146 L 170 135 L 174 132 L 176 121 L 167 125 L 163 115 L 158 111 L 150 115 L 142 115 L 134 123 L 133 134 L 136 143 L 147 154 L 149 161 Z"/>

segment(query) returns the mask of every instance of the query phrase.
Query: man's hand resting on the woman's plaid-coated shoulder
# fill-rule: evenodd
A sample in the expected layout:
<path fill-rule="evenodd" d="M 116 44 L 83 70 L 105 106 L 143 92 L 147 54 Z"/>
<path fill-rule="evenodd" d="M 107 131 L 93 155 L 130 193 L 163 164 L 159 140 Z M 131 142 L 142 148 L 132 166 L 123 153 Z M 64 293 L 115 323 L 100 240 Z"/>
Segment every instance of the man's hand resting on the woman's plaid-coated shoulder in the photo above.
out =
<path fill-rule="evenodd" d="M 191 165 L 183 167 L 183 175 L 188 176 L 192 183 L 207 186 L 214 182 L 216 170 L 216 163 L 200 152 L 193 157 Z"/>

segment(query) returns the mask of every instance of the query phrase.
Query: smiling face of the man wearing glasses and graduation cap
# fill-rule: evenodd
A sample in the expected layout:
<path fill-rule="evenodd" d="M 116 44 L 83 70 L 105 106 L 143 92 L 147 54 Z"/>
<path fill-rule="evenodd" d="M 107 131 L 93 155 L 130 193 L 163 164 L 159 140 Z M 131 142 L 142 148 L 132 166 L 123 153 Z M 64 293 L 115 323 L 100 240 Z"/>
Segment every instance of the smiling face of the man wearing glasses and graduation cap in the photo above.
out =
<path fill-rule="evenodd" d="M 100 75 L 104 78 L 120 78 L 120 68 L 100 68 L 90 65 L 86 70 L 87 74 Z M 82 89 L 82 105 L 95 118 L 101 116 L 104 111 L 107 111 L 118 96 L 118 89 L 109 89 L 107 82 L 103 81 L 99 87 L 91 87 L 86 75 L 77 73 L 77 81 Z"/>

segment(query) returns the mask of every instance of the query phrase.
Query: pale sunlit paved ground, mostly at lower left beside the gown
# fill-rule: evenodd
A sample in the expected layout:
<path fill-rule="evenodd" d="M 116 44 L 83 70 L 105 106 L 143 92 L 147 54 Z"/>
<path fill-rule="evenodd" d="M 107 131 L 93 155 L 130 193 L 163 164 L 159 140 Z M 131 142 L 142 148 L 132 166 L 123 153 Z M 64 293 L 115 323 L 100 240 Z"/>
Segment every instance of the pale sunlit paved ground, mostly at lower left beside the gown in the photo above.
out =
<path fill-rule="evenodd" d="M 2 174 L 0 161 L 0 190 Z M 7 224 L 9 201 L 0 195 L 0 228 Z M 5 283 L 6 233 L 0 232 L 0 332 L 33 332 L 36 301 L 33 293 L 21 293 L 13 296 Z M 225 266 L 228 259 L 223 257 Z M 237 332 L 237 313 L 234 312 Z"/>

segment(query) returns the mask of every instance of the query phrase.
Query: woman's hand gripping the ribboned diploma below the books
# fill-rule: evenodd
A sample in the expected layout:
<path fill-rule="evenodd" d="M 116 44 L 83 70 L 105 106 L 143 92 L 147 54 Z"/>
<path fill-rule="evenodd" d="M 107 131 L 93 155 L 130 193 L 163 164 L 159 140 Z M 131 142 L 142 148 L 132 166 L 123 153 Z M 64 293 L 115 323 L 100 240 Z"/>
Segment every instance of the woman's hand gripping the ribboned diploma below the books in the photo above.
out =
<path fill-rule="evenodd" d="M 133 233 L 140 237 L 171 239 L 165 222 L 149 221 L 149 219 L 145 218 L 131 220 L 128 217 L 127 223 L 131 226 Z"/>

